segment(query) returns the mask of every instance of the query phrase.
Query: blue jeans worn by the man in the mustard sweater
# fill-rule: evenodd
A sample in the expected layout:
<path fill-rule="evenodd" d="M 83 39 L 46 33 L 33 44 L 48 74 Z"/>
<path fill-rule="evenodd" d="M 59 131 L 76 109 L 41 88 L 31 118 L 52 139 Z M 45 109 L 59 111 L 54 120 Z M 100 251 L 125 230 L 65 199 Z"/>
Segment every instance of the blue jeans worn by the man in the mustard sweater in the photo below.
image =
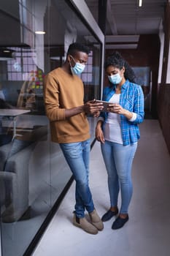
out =
<path fill-rule="evenodd" d="M 89 213 L 94 209 L 88 185 L 90 140 L 77 143 L 61 143 L 60 146 L 76 181 L 75 213 L 77 217 L 83 218 L 85 217 L 85 209 Z"/>

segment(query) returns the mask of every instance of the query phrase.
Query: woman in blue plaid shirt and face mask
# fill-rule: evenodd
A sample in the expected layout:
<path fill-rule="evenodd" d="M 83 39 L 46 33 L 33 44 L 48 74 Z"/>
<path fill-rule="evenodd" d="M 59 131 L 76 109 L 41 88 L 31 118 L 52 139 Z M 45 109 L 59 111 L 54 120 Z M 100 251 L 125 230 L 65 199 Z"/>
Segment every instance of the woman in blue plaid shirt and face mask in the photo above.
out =
<path fill-rule="evenodd" d="M 119 213 L 112 224 L 112 229 L 116 230 L 128 221 L 133 192 L 131 167 L 140 138 L 138 124 L 144 120 L 144 95 L 142 87 L 135 83 L 133 69 L 120 53 L 109 56 L 105 68 L 109 86 L 104 88 L 103 100 L 110 105 L 98 118 L 96 139 L 101 142 L 110 197 L 110 208 L 102 221 L 106 222 Z M 119 191 L 120 211 L 117 208 Z"/>

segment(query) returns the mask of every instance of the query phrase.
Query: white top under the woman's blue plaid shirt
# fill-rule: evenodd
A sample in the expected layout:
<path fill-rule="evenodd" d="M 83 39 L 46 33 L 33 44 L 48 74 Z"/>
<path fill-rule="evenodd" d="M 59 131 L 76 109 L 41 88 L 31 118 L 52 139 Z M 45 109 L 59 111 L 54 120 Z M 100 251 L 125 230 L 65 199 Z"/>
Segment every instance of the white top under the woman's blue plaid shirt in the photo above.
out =
<path fill-rule="evenodd" d="M 119 104 L 120 94 L 113 94 L 109 99 L 110 103 Z M 108 113 L 107 121 L 104 125 L 104 139 L 115 143 L 123 144 L 122 133 L 120 129 L 120 115 L 116 113 Z"/>

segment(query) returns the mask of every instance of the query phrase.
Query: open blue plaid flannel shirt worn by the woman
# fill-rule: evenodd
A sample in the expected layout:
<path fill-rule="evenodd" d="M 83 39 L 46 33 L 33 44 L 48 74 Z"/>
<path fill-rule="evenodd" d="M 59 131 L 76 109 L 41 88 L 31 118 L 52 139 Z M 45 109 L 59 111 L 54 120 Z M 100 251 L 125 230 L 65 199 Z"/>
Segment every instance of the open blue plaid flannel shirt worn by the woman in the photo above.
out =
<path fill-rule="evenodd" d="M 102 99 L 109 101 L 113 94 L 115 94 L 115 86 L 107 86 L 104 88 Z M 136 83 L 131 83 L 129 80 L 126 80 L 121 87 L 119 104 L 125 108 L 125 110 L 136 113 L 135 121 L 128 121 L 125 116 L 120 115 L 120 128 L 122 131 L 123 146 L 134 144 L 140 138 L 138 124 L 144 121 L 144 94 L 142 87 Z M 101 112 L 100 116 L 104 118 L 104 121 L 107 120 L 106 112 Z"/>

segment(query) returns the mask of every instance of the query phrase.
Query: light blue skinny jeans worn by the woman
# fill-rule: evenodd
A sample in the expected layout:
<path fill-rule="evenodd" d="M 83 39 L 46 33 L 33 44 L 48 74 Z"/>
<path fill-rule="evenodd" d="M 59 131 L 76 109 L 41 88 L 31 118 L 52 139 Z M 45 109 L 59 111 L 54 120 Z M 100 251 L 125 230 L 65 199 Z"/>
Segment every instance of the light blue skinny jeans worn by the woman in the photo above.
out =
<path fill-rule="evenodd" d="M 128 206 L 133 193 L 131 167 L 137 143 L 123 146 L 108 140 L 101 143 L 101 152 L 108 174 L 110 204 L 117 206 L 118 194 L 121 192 L 120 214 L 128 213 Z"/>

